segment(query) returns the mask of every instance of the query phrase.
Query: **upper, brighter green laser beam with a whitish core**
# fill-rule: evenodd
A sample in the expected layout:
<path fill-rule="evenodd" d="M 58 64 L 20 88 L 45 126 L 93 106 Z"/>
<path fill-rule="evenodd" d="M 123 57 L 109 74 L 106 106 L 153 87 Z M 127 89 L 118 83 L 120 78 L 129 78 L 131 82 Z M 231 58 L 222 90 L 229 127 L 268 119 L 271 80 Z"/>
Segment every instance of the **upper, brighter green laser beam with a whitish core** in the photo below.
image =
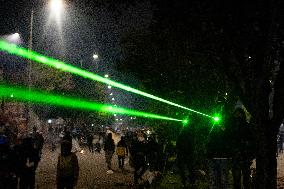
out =
<path fill-rule="evenodd" d="M 82 76 L 84 78 L 88 78 L 88 79 L 95 80 L 95 81 L 98 81 L 98 82 L 101 82 L 101 83 L 105 83 L 105 84 L 108 84 L 110 86 L 126 90 L 128 92 L 139 94 L 139 95 L 142 95 L 142 96 L 154 99 L 154 100 L 158 100 L 160 102 L 163 102 L 163 103 L 166 103 L 166 104 L 169 104 L 169 105 L 172 105 L 172 106 L 176 106 L 176 107 L 179 107 L 179 108 L 182 108 L 182 109 L 185 109 L 185 110 L 197 113 L 199 115 L 203 115 L 203 116 L 206 116 L 206 117 L 214 119 L 213 116 L 210 116 L 210 115 L 198 112 L 196 110 L 187 108 L 185 106 L 176 104 L 174 102 L 170 102 L 168 100 L 165 100 L 165 99 L 162 99 L 160 97 L 151 95 L 149 93 L 140 91 L 138 89 L 129 87 L 127 85 L 123 85 L 121 83 L 118 83 L 118 82 L 112 81 L 110 79 L 104 78 L 102 76 L 99 76 L 97 74 L 94 74 L 92 72 L 88 72 L 86 70 L 77 68 L 77 67 L 72 66 L 70 64 L 66 64 L 66 63 L 61 62 L 59 60 L 56 60 L 56 59 L 53 59 L 53 58 L 50 58 L 50 57 L 47 57 L 47 56 L 43 56 L 43 55 L 41 55 L 39 53 L 36 53 L 34 51 L 30 51 L 30 50 L 22 48 L 22 47 L 18 47 L 15 44 L 7 43 L 7 42 L 5 42 L 3 40 L 0 40 L 0 50 L 8 52 L 10 54 L 21 56 L 23 58 L 27 58 L 27 59 L 33 60 L 33 61 L 41 63 L 41 64 L 45 64 L 45 65 L 51 66 L 53 68 L 56 68 L 56 69 L 59 69 L 59 70 L 65 71 L 65 72 L 69 72 L 69 73 L 72 73 L 72 74 L 76 74 L 78 76 Z"/>

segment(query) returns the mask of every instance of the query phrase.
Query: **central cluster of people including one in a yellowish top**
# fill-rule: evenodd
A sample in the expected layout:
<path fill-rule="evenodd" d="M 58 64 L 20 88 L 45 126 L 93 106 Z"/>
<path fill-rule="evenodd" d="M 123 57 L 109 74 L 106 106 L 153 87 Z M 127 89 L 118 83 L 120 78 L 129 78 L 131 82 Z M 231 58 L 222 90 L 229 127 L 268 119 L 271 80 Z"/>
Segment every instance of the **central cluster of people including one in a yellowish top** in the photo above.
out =
<path fill-rule="evenodd" d="M 118 166 L 124 170 L 125 159 L 129 157 L 129 165 L 134 168 L 134 184 L 143 182 L 142 175 L 149 168 L 151 171 L 157 170 L 157 147 L 158 143 L 148 138 L 142 132 L 132 133 L 131 136 L 121 136 L 120 141 L 115 146 L 112 134 L 109 133 L 104 142 L 105 159 L 108 174 L 113 173 L 112 158 L 117 155 Z"/>

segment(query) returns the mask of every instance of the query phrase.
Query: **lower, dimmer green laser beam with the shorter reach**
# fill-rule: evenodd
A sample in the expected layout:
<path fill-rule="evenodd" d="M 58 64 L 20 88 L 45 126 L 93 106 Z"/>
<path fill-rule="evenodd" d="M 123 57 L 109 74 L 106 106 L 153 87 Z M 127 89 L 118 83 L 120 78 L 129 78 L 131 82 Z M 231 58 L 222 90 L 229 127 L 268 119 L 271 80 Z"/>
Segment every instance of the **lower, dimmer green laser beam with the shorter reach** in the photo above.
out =
<path fill-rule="evenodd" d="M 112 106 L 109 104 L 100 104 L 80 98 L 76 99 L 72 97 L 64 97 L 56 94 L 29 90 L 10 85 L 0 85 L 0 97 L 7 97 L 16 101 L 32 101 L 34 103 L 51 104 L 56 106 L 63 106 L 66 108 L 77 108 L 81 110 L 100 111 L 106 113 L 116 113 L 122 115 L 132 115 L 144 118 L 182 122 L 182 120 L 171 117 L 131 110 L 127 108 Z"/>

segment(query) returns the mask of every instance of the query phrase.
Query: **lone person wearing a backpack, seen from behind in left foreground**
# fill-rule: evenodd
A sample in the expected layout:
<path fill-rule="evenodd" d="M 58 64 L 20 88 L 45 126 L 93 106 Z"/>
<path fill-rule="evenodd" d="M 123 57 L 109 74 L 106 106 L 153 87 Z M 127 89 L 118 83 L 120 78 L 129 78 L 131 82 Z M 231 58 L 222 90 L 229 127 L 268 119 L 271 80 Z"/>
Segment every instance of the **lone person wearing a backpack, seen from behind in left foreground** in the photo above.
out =
<path fill-rule="evenodd" d="M 73 189 L 79 176 L 78 158 L 71 152 L 72 143 L 63 140 L 58 156 L 56 183 L 57 189 Z"/>

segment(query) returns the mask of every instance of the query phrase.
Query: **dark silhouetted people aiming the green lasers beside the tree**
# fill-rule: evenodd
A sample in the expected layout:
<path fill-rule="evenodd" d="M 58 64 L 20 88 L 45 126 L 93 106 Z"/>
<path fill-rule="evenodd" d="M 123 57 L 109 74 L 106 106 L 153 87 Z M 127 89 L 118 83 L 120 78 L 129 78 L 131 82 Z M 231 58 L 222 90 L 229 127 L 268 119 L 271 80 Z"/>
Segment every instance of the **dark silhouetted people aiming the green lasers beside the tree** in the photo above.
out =
<path fill-rule="evenodd" d="M 184 186 L 196 181 L 195 138 L 196 125 L 183 129 L 177 140 L 177 160 Z M 250 189 L 251 168 L 255 158 L 253 127 L 246 120 L 242 108 L 236 108 L 223 125 L 216 124 L 207 138 L 207 162 L 212 189 Z M 186 173 L 186 170 L 188 173 Z M 229 170 L 233 183 L 229 183 Z"/>

